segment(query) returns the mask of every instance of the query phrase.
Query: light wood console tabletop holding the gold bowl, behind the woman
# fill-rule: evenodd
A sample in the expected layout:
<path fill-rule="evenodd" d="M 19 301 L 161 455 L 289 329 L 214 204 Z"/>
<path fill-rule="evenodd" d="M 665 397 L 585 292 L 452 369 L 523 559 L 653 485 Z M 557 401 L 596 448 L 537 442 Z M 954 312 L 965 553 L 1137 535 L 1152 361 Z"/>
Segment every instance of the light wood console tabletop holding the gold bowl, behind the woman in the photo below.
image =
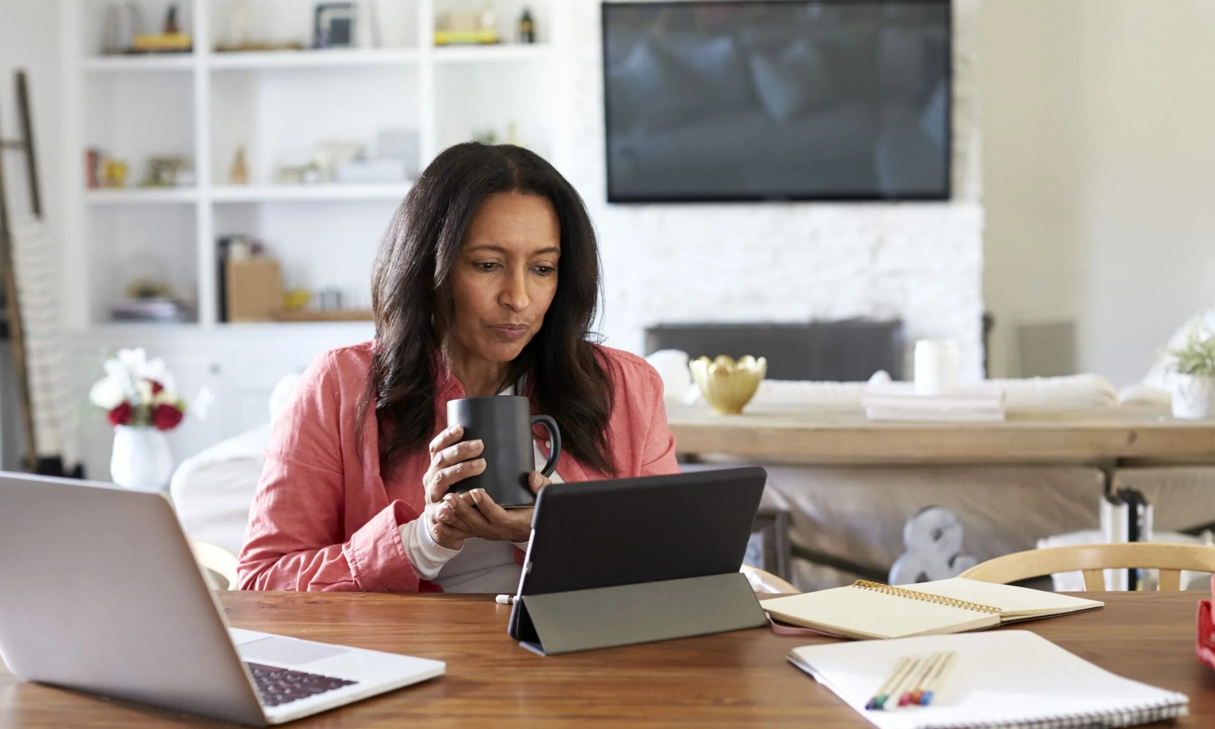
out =
<path fill-rule="evenodd" d="M 1210 463 L 1215 420 L 1176 420 L 1152 408 L 1010 411 L 1002 423 L 871 422 L 860 408 L 753 407 L 718 416 L 667 411 L 682 456 L 803 464 Z"/>

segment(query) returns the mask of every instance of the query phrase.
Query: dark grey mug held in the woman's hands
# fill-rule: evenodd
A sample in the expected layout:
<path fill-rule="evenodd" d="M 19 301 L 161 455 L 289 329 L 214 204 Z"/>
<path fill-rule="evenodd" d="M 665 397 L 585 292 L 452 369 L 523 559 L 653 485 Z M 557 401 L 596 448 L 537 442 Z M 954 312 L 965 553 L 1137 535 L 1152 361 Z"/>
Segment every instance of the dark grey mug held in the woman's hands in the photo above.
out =
<path fill-rule="evenodd" d="M 457 482 L 452 491 L 485 488 L 490 498 L 502 507 L 536 503 L 536 495 L 527 485 L 529 476 L 536 470 L 531 430 L 536 424 L 548 430 L 552 448 L 541 473 L 552 476 L 561 458 L 561 431 L 553 418 L 531 414 L 531 402 L 526 397 L 496 395 L 450 401 L 447 426 L 463 425 L 462 440 L 485 442 L 485 451 L 481 452 L 485 471 Z"/>

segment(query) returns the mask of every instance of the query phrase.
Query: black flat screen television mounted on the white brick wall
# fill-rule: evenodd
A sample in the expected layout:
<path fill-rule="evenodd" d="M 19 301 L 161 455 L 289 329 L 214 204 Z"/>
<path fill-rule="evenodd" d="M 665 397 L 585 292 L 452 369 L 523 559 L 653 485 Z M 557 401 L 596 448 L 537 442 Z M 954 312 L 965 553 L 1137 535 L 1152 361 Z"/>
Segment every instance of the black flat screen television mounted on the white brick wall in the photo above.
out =
<path fill-rule="evenodd" d="M 950 196 L 950 0 L 605 2 L 609 202 Z"/>

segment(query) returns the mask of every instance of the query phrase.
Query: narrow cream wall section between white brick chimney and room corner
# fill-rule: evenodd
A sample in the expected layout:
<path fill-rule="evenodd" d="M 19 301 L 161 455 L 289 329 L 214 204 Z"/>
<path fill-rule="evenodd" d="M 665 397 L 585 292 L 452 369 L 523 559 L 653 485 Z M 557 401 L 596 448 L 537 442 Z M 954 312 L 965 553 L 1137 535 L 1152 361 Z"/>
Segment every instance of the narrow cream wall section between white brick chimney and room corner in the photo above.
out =
<path fill-rule="evenodd" d="M 1019 374 L 1017 323 L 1075 317 L 1074 207 L 1079 128 L 1076 0 L 983 4 L 983 294 L 996 317 L 994 377 Z"/>

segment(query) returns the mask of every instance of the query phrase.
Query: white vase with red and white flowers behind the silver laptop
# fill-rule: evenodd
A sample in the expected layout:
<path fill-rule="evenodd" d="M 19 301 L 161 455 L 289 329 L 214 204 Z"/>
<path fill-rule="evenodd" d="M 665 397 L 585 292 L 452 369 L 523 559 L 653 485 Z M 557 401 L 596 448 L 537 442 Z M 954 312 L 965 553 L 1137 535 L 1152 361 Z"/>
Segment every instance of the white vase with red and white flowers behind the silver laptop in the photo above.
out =
<path fill-rule="evenodd" d="M 125 488 L 164 490 L 173 475 L 173 454 L 165 433 L 181 424 L 186 401 L 173 374 L 159 358 L 148 361 L 143 349 L 120 350 L 106 362 L 89 400 L 106 411 L 114 428 L 109 475 Z"/>

